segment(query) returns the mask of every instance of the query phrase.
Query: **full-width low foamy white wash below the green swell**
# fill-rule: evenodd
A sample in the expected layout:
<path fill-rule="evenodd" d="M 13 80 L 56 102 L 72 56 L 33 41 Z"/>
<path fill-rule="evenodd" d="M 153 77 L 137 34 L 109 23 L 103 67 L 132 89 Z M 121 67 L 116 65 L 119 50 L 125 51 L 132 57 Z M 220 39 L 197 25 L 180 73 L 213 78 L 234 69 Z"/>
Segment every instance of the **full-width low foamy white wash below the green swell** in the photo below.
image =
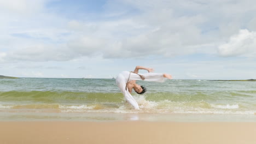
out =
<path fill-rule="evenodd" d="M 242 106 L 241 104 L 211 104 L 207 101 L 150 101 L 144 95 L 135 95 L 140 110 L 135 110 L 129 103 L 119 102 L 94 102 L 88 104 L 2 104 L 3 111 L 52 111 L 62 113 L 199 113 L 199 114 L 236 114 L 254 115 L 255 107 Z"/>

